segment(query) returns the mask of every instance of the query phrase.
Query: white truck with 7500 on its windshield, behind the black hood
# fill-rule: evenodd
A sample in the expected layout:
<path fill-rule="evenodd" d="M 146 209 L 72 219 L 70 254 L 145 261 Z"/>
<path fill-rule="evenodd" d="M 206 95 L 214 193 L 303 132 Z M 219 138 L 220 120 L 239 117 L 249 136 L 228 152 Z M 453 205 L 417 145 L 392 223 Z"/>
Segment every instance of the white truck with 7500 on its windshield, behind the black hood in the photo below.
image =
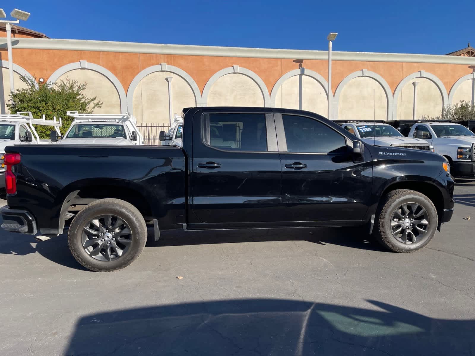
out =
<path fill-rule="evenodd" d="M 335 121 L 338 122 L 338 121 Z M 405 137 L 387 123 L 347 122 L 340 126 L 362 141 L 373 146 L 392 146 L 416 150 L 434 151 L 431 145 L 422 139 Z"/>

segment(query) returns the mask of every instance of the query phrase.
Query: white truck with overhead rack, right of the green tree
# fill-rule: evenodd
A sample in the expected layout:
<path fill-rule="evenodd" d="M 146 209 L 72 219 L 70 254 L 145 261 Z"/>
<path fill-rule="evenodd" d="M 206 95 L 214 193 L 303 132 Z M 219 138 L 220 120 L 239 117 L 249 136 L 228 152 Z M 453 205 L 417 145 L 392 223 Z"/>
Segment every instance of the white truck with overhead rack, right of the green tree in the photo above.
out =
<path fill-rule="evenodd" d="M 57 144 L 75 145 L 142 145 L 143 136 L 133 116 L 127 114 L 82 114 L 68 111 L 74 118 L 66 134 L 51 132 Z"/>

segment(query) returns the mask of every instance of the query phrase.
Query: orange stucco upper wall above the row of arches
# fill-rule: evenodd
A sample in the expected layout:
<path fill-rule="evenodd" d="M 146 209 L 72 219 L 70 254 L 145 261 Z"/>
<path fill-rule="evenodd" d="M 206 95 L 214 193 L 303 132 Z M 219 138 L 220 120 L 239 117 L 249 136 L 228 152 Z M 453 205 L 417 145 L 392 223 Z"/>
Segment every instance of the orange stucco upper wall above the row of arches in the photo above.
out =
<path fill-rule="evenodd" d="M 198 84 L 201 91 L 209 78 L 217 71 L 225 67 L 238 65 L 259 75 L 266 84 L 269 93 L 282 75 L 290 70 L 297 69 L 299 66 L 292 59 L 178 56 L 72 50 L 13 49 L 13 57 L 14 62 L 25 68 L 29 73 L 37 78 L 43 77 L 45 79 L 61 66 L 79 60 L 86 60 L 111 71 L 120 80 L 125 91 L 127 91 L 135 75 L 149 66 L 160 63 L 167 63 L 187 72 Z M 8 59 L 5 49 L 0 50 L 0 59 Z M 303 66 L 319 73 L 324 78 L 328 77 L 328 64 L 325 60 L 304 60 Z M 472 73 L 473 70 L 471 66 L 466 65 L 333 61 L 333 93 L 344 77 L 361 69 L 368 69 L 381 75 L 393 92 L 404 77 L 419 70 L 436 75 L 448 92 L 458 78 Z"/>

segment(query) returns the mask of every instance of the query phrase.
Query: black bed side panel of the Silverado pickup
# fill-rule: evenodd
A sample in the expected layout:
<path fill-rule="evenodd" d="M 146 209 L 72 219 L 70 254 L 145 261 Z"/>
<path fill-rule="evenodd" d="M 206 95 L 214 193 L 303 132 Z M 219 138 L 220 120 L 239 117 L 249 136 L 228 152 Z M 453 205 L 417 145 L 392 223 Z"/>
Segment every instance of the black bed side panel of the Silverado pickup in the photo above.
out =
<path fill-rule="evenodd" d="M 63 202 L 79 187 L 77 204 L 100 192 L 127 191 L 163 228 L 185 222 L 185 154 L 178 147 L 15 145 L 6 152 L 21 155 L 13 167 L 18 191 L 8 196 L 8 205 L 28 206 L 43 234 L 62 233 L 49 229 L 58 225 Z"/>

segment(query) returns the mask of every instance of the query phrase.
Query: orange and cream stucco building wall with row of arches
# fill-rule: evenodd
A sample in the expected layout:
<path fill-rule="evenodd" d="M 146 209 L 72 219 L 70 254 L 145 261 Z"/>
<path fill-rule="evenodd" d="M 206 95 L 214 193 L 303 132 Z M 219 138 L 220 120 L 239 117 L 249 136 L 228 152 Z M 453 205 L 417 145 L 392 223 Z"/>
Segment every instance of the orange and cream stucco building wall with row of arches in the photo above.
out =
<path fill-rule="evenodd" d="M 167 76 L 176 113 L 194 105 L 298 108 L 302 102 L 304 110 L 327 116 L 330 102 L 331 119 L 412 119 L 414 81 L 419 82 L 416 118 L 472 99 L 475 58 L 333 52 L 327 95 L 326 56 L 325 51 L 44 38 L 19 38 L 13 47 L 17 75 L 50 80 L 58 68 L 71 66 L 74 70 L 53 79 L 85 82 L 87 94 L 104 102 L 96 112 L 131 111 L 139 122 L 168 124 Z M 8 59 L 6 49 L 0 49 L 0 59 Z M 2 73 L 8 91 L 8 71 Z"/>

